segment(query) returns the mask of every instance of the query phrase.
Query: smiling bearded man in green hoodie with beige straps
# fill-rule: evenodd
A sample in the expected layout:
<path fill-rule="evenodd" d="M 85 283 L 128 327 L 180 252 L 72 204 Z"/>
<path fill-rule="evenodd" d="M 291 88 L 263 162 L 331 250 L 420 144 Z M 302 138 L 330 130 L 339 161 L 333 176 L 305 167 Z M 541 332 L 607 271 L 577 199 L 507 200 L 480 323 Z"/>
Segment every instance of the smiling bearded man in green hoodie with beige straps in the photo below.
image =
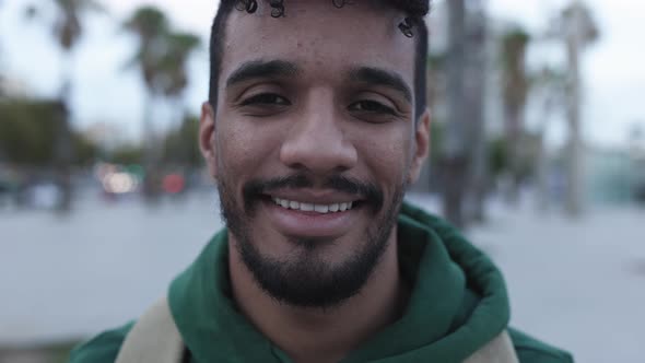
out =
<path fill-rule="evenodd" d="M 226 231 L 77 362 L 572 362 L 492 262 L 402 202 L 429 150 L 429 1 L 222 1 L 199 143 Z"/>

